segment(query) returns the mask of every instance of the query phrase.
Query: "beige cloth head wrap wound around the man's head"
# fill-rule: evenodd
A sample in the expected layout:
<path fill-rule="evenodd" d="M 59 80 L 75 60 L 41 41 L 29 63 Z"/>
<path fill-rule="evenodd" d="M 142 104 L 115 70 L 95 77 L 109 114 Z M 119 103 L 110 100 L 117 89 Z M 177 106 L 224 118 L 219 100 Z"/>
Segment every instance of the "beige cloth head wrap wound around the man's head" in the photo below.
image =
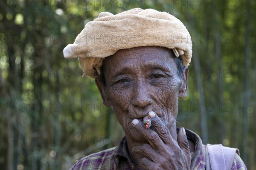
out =
<path fill-rule="evenodd" d="M 87 23 L 73 44 L 67 45 L 65 58 L 79 58 L 83 76 L 96 78 L 105 57 L 125 48 L 161 46 L 181 56 L 184 66 L 192 57 L 192 42 L 183 23 L 166 12 L 134 8 L 113 15 L 102 12 Z"/>

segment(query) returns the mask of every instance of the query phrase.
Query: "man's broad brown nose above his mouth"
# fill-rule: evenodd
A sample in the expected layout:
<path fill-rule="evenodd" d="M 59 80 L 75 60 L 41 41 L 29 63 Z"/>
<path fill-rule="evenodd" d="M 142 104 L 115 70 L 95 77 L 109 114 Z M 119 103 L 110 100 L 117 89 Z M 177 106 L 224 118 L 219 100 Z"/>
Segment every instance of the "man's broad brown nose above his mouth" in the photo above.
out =
<path fill-rule="evenodd" d="M 151 89 L 148 88 L 145 83 L 137 83 L 137 86 L 134 87 L 134 95 L 132 104 L 134 106 L 145 108 L 148 105 L 153 103 L 151 98 Z"/>

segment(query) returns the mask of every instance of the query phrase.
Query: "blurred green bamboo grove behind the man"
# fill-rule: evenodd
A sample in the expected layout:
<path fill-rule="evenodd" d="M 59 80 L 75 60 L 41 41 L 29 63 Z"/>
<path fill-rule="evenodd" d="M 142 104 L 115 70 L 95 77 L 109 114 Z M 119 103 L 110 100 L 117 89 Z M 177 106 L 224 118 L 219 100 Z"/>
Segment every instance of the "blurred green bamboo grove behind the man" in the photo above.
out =
<path fill-rule="evenodd" d="M 124 133 L 112 109 L 62 50 L 100 12 L 135 7 L 169 12 L 191 34 L 177 126 L 204 144 L 239 148 L 256 169 L 256 1 L 1 0 L 1 170 L 64 170 L 118 144 Z"/>

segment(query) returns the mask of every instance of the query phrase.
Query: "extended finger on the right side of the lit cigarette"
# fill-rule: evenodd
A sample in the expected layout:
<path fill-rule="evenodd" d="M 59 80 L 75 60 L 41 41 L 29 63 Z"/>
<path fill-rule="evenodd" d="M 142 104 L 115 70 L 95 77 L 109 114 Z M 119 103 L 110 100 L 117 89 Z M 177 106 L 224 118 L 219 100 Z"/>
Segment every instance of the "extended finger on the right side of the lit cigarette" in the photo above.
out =
<path fill-rule="evenodd" d="M 148 117 L 151 120 L 151 124 L 154 125 L 158 135 L 160 136 L 160 138 L 163 140 L 165 144 L 167 145 L 177 144 L 175 139 L 172 138 L 172 135 L 168 127 L 166 127 L 166 125 L 163 124 L 163 122 L 160 120 L 160 118 L 157 116 L 156 113 L 151 111 L 148 113 Z"/>

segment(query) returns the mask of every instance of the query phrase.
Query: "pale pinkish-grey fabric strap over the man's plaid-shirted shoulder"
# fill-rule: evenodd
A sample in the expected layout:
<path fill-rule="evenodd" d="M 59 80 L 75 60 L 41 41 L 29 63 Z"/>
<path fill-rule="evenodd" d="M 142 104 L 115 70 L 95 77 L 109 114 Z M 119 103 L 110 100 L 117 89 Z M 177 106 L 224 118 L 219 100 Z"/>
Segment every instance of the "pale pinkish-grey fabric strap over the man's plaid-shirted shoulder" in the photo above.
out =
<path fill-rule="evenodd" d="M 206 170 L 230 170 L 239 150 L 222 144 L 207 144 Z"/>

